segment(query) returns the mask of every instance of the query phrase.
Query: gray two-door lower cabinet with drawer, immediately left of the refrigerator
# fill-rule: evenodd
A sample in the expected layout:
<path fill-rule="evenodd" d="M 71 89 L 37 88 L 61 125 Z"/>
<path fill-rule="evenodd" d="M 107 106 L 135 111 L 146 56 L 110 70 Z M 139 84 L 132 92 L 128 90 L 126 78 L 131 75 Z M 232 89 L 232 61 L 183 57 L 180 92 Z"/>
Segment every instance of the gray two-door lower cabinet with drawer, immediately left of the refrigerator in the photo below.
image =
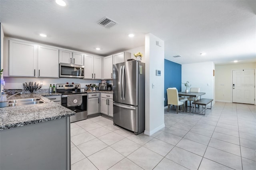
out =
<path fill-rule="evenodd" d="M 101 93 L 100 113 L 113 117 L 113 94 Z"/>

